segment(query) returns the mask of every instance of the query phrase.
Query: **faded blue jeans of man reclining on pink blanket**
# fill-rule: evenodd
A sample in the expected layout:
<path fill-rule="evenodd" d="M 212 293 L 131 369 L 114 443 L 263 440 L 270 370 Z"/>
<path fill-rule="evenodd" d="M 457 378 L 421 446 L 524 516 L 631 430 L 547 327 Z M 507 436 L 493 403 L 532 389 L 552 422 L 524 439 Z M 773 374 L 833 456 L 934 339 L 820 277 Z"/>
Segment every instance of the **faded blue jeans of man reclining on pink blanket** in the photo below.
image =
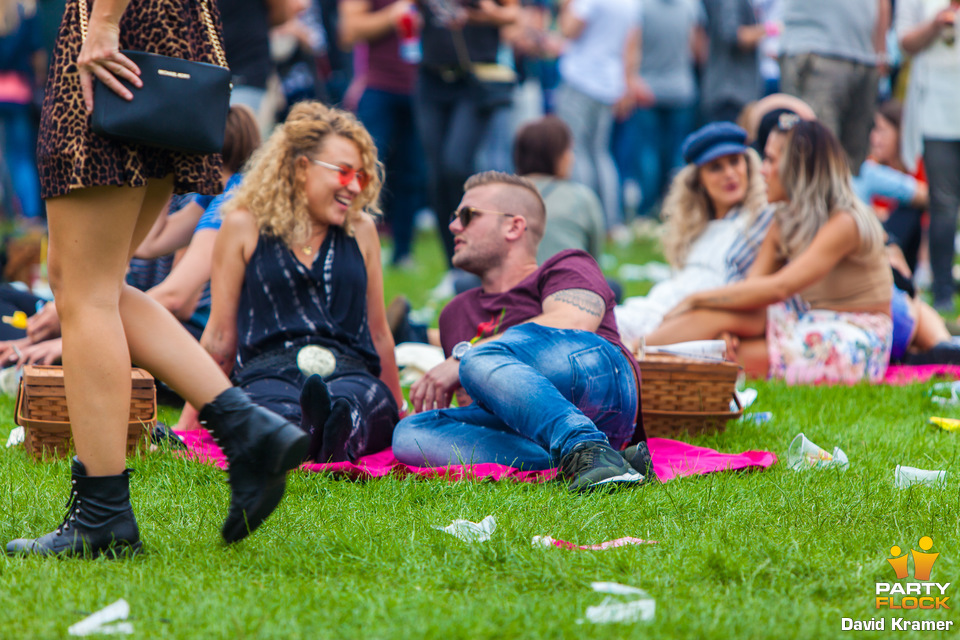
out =
<path fill-rule="evenodd" d="M 393 435 L 400 462 L 549 469 L 581 442 L 619 449 L 636 427 L 630 363 L 588 331 L 512 327 L 467 352 L 460 383 L 473 404 L 400 421 Z"/>

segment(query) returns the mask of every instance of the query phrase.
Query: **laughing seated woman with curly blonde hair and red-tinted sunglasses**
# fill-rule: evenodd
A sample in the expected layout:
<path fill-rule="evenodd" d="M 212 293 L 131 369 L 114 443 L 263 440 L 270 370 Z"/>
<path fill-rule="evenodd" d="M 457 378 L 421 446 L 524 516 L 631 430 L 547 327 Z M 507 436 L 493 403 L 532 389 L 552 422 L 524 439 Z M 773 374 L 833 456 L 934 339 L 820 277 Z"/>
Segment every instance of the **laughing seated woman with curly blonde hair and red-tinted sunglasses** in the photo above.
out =
<path fill-rule="evenodd" d="M 251 159 L 214 250 L 201 343 L 255 402 L 300 421 L 317 462 L 385 449 L 399 419 L 369 215 L 381 176 L 352 114 L 299 103 Z"/>

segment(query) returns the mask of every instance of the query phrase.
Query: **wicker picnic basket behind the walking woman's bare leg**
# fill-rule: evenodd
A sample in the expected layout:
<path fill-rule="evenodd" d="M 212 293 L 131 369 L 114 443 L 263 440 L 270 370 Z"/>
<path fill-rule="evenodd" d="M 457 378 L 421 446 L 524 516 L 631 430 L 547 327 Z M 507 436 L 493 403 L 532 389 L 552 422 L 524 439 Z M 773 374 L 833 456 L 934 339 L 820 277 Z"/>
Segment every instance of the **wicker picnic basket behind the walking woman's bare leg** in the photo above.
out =
<path fill-rule="evenodd" d="M 144 446 L 144 436 L 157 424 L 157 390 L 153 376 L 135 368 L 130 372 L 130 379 L 127 453 Z M 15 421 L 23 427 L 24 445 L 33 458 L 67 455 L 73 442 L 61 367 L 27 365 L 23 368 Z"/>

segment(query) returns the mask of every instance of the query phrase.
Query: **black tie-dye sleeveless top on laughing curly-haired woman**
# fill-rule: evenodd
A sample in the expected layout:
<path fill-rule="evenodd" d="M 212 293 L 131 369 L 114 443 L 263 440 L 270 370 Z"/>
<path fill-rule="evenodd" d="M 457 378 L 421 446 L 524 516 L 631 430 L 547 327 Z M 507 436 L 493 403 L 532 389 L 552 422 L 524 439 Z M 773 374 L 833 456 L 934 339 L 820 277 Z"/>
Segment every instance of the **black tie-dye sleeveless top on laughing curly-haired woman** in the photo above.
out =
<path fill-rule="evenodd" d="M 379 376 L 367 323 L 367 270 L 356 239 L 330 227 L 307 267 L 283 240 L 261 235 L 247 264 L 237 332 L 241 367 L 268 351 L 318 344 L 361 360 Z"/>

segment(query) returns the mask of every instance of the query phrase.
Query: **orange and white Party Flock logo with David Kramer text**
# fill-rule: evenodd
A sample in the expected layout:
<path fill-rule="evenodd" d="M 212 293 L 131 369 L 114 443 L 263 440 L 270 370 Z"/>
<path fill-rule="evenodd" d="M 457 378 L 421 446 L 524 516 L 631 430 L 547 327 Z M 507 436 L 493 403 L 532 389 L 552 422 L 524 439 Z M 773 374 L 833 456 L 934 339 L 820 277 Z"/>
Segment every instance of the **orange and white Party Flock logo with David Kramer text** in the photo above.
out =
<path fill-rule="evenodd" d="M 946 595 L 949 582 L 939 583 L 930 579 L 933 565 L 940 557 L 939 552 L 931 552 L 933 539 L 923 536 L 917 542 L 920 550 L 911 549 L 908 553 L 897 545 L 890 547 L 891 558 L 887 562 L 893 568 L 897 582 L 877 582 L 874 592 L 874 606 L 890 611 L 909 609 L 949 609 L 950 596 Z M 910 574 L 910 560 L 913 559 L 913 575 Z M 913 578 L 908 581 L 908 578 Z M 945 631 L 953 626 L 953 620 L 907 620 L 890 618 L 891 631 Z M 885 618 L 869 620 L 841 619 L 843 631 L 884 631 Z"/>

